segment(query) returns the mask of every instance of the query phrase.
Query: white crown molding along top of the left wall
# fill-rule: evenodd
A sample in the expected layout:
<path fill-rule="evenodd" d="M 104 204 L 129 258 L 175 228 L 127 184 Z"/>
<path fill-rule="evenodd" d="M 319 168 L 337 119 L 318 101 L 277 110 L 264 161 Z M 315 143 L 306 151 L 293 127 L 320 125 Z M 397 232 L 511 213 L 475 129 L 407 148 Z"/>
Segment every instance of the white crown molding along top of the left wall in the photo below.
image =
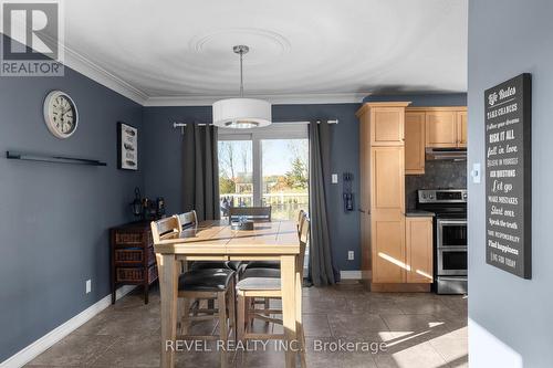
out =
<path fill-rule="evenodd" d="M 148 99 L 148 95 L 135 87 L 131 83 L 124 81 L 123 78 L 109 73 L 98 64 L 92 62 L 85 56 L 81 55 L 76 51 L 63 46 L 64 49 L 64 61 L 65 66 L 90 77 L 94 82 L 102 84 L 103 86 L 117 92 L 118 94 L 134 101 L 135 103 L 143 105 Z"/>

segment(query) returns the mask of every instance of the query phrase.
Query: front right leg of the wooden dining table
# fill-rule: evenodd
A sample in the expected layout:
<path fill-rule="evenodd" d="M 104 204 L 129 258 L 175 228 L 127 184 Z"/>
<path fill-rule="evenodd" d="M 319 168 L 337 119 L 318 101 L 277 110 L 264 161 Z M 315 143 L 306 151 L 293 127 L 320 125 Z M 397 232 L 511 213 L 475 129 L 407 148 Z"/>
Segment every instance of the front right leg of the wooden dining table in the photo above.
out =
<path fill-rule="evenodd" d="M 281 256 L 281 287 L 282 287 L 282 322 L 284 336 L 288 340 L 286 368 L 295 367 L 296 336 L 296 286 L 295 286 L 295 256 Z"/>

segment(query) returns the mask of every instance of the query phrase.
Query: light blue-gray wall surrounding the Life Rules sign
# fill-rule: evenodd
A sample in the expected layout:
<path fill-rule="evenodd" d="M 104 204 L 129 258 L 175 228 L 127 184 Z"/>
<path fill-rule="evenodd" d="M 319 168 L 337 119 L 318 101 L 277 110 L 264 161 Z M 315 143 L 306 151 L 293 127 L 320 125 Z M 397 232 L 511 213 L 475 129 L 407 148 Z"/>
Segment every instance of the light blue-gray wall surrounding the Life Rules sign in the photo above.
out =
<path fill-rule="evenodd" d="M 486 263 L 484 182 L 469 183 L 471 368 L 553 367 L 552 14 L 551 0 L 469 2 L 469 168 L 486 167 L 484 90 L 532 73 L 533 198 L 533 275 L 523 280 Z"/>

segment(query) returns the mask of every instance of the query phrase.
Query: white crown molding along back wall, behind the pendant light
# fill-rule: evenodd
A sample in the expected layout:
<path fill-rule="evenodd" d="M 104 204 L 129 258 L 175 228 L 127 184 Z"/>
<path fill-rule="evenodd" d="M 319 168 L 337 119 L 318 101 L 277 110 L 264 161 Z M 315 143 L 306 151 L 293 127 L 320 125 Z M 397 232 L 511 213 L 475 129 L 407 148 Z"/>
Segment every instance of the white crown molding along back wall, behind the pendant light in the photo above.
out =
<path fill-rule="evenodd" d="M 262 98 L 273 105 L 298 105 L 298 104 L 361 104 L 371 93 L 305 93 L 305 94 L 274 94 L 274 95 L 248 95 L 246 97 Z M 216 101 L 229 98 L 229 96 L 159 96 L 149 97 L 144 106 L 211 106 Z"/>

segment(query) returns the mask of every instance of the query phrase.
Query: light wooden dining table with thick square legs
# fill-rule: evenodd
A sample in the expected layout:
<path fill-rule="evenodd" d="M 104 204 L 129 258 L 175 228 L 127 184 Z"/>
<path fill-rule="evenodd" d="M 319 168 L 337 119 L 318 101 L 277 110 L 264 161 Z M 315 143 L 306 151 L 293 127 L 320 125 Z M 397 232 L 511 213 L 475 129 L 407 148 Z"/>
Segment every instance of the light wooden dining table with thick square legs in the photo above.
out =
<path fill-rule="evenodd" d="M 296 267 L 300 243 L 293 221 L 257 222 L 253 230 L 232 230 L 228 221 L 204 221 L 154 244 L 161 296 L 161 367 L 175 366 L 178 276 L 182 261 L 280 261 L 282 322 L 289 344 L 302 329 L 302 281 Z M 286 368 L 295 367 L 296 353 L 285 350 Z"/>

